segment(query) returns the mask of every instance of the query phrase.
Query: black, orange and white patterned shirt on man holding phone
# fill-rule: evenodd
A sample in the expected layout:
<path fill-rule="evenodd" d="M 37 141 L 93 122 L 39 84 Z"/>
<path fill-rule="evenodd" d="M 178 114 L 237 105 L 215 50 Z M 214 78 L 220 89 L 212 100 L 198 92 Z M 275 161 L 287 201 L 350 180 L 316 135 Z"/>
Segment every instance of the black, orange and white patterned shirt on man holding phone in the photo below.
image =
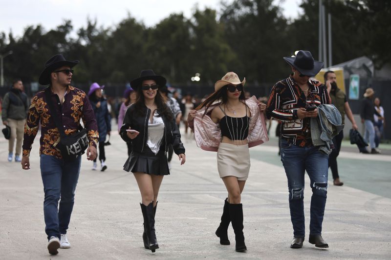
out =
<path fill-rule="evenodd" d="M 312 145 L 311 119 L 299 119 L 297 110 L 308 105 L 330 104 L 331 99 L 322 82 L 308 80 L 308 95 L 290 76 L 277 82 L 267 101 L 266 116 L 268 119 L 281 121 L 281 138 L 293 142 L 297 146 Z"/>

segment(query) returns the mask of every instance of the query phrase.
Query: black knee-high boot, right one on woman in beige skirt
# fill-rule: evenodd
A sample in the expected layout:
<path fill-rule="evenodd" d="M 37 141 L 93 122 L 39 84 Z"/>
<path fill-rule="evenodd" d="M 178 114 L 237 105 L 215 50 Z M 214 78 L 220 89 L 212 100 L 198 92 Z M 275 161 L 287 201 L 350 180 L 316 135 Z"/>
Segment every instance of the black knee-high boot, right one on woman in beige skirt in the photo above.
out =
<path fill-rule="evenodd" d="M 232 227 L 235 232 L 235 250 L 237 252 L 244 252 L 247 250 L 247 247 L 244 244 L 242 204 L 229 203 L 229 216 L 231 217 Z"/>

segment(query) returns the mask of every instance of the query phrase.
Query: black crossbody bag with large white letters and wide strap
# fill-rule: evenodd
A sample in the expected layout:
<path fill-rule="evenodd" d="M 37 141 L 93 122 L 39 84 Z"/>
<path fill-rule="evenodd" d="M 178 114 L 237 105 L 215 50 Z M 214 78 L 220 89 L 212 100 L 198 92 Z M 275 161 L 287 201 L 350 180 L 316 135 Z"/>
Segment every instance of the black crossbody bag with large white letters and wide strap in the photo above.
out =
<path fill-rule="evenodd" d="M 56 148 L 61 151 L 63 160 L 73 161 L 79 158 L 88 147 L 88 138 L 86 128 L 82 128 L 79 125 L 79 132 L 73 135 L 65 135 L 64 128 L 62 123 L 56 114 L 56 108 L 53 105 L 53 101 L 50 97 L 50 87 L 45 90 L 46 103 L 49 106 L 50 115 L 53 117 L 56 122 L 56 126 L 60 132 L 60 142 L 58 142 Z"/>

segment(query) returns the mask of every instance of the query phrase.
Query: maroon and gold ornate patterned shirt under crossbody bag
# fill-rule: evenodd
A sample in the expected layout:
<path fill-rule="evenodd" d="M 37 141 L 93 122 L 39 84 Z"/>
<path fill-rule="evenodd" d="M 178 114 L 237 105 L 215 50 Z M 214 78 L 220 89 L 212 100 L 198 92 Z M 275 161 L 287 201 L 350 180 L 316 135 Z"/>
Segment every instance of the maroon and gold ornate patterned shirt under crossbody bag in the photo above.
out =
<path fill-rule="evenodd" d="M 87 129 L 88 144 L 96 147 L 99 139 L 98 126 L 86 93 L 68 86 L 62 104 L 57 94 L 51 92 L 51 98 L 56 107 L 55 113 L 63 123 L 65 134 L 76 133 L 79 129 L 80 119 L 82 119 Z M 56 148 L 60 141 L 60 133 L 54 119 L 51 118 L 49 106 L 45 100 L 45 92 L 41 91 L 31 101 L 24 125 L 23 156 L 30 155 L 31 145 L 41 122 L 40 155 L 52 155 L 62 159 L 60 150 Z"/>

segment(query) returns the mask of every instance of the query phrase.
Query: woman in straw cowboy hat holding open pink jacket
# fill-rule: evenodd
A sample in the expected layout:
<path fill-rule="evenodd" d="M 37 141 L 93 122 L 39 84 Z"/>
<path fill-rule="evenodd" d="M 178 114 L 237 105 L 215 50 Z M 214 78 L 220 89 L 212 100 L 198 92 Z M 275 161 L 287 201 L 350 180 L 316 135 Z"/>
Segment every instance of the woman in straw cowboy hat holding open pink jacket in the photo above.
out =
<path fill-rule="evenodd" d="M 250 170 L 248 148 L 269 140 L 262 112 L 266 105 L 258 103 L 254 96 L 245 99 L 245 81 L 240 81 L 236 73 L 228 72 L 215 83 L 215 92 L 188 116 L 197 145 L 207 151 L 217 151 L 218 174 L 228 198 L 224 201 L 216 235 L 220 244 L 229 245 L 227 229 L 232 222 L 238 252 L 247 250 L 240 194 Z"/>

